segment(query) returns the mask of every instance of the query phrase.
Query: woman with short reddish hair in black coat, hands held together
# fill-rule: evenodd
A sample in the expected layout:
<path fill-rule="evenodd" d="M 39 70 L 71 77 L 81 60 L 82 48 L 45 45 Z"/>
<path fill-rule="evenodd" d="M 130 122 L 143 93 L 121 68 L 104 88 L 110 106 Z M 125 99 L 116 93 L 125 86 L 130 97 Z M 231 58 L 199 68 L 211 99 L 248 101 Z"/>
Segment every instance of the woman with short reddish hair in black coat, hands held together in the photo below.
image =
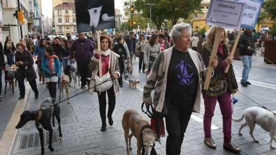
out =
<path fill-rule="evenodd" d="M 17 70 L 16 79 L 18 81 L 20 97 L 23 99 L 25 97 L 25 78 L 29 81 L 32 90 L 34 91 L 35 99 L 38 98 L 38 90 L 36 86 L 36 74 L 34 70 L 34 60 L 32 54 L 25 50 L 25 45 L 18 43 L 16 44 L 18 52 L 15 54 L 15 65 L 19 66 Z"/>

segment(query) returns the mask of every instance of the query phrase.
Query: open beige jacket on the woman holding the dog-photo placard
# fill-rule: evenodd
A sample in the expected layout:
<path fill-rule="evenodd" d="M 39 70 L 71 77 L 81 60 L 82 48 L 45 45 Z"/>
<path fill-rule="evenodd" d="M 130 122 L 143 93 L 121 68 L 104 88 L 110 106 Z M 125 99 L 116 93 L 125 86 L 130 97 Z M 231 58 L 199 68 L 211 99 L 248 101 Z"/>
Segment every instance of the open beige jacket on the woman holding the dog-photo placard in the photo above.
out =
<path fill-rule="evenodd" d="M 94 50 L 93 54 L 95 54 L 97 52 L 97 50 Z M 114 73 L 116 73 L 118 75 L 118 78 L 120 77 L 120 69 L 119 69 L 119 54 L 116 54 L 115 52 L 111 51 L 110 53 L 110 75 L 113 75 Z M 98 74 L 99 71 L 99 60 L 96 59 L 94 56 L 91 59 L 91 62 L 89 64 L 89 70 L 91 72 L 91 79 L 90 79 L 90 86 L 89 88 L 92 88 L 95 86 L 95 77 Z M 114 88 L 114 93 L 115 95 L 118 95 L 120 93 L 120 89 L 119 89 L 119 83 L 118 80 L 113 80 L 113 88 Z M 89 94 L 93 95 L 93 93 L 95 92 L 95 89 L 92 88 L 89 90 Z"/>

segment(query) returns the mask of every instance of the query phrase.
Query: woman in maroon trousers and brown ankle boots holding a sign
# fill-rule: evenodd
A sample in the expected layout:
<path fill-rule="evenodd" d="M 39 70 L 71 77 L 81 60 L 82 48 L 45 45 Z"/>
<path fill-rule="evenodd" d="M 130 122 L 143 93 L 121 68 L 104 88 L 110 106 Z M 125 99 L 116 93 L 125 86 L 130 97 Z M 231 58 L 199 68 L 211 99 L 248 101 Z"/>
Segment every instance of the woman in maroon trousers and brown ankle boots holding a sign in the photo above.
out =
<path fill-rule="evenodd" d="M 204 44 L 201 51 L 201 56 L 204 65 L 208 67 L 209 58 L 212 53 L 215 34 L 218 30 L 217 27 L 212 27 L 207 35 L 207 43 Z M 231 143 L 231 122 L 232 122 L 232 104 L 231 94 L 238 91 L 238 85 L 234 74 L 233 66 L 231 65 L 233 57 L 228 54 L 226 46 L 226 31 L 220 35 L 220 43 L 217 51 L 218 66 L 214 70 L 214 75 L 210 80 L 209 90 L 203 90 L 204 99 L 204 143 L 211 148 L 216 148 L 215 142 L 211 137 L 211 121 L 214 116 L 215 105 L 218 101 L 220 104 L 220 111 L 223 119 L 223 134 L 224 143 L 223 147 L 231 152 L 241 152 L 241 149 Z M 230 65 L 228 73 L 224 73 L 227 65 Z M 203 80 L 204 81 L 204 80 Z"/>

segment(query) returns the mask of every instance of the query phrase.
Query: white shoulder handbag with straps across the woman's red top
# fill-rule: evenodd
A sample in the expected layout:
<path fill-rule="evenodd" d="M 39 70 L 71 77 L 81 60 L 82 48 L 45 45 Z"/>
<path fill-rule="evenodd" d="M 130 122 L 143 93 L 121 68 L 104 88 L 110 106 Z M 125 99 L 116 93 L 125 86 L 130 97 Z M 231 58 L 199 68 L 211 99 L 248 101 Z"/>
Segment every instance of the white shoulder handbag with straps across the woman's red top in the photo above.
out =
<path fill-rule="evenodd" d="M 102 59 L 102 58 L 100 57 L 100 59 Z M 108 65 L 107 73 L 105 75 L 103 75 L 102 77 L 99 77 L 98 75 L 95 76 L 95 89 L 98 92 L 104 92 L 106 90 L 109 90 L 113 85 L 113 80 L 109 74 L 110 59 L 111 59 L 111 55 L 109 56 L 109 65 Z M 99 67 L 102 67 L 101 61 L 99 61 Z"/>

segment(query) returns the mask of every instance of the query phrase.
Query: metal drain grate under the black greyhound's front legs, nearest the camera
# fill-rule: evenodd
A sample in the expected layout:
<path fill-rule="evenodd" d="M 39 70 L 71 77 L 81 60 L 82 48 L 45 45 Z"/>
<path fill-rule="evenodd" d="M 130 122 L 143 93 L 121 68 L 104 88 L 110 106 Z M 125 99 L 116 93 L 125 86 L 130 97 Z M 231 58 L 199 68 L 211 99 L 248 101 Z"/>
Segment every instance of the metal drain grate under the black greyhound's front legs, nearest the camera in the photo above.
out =
<path fill-rule="evenodd" d="M 30 147 L 39 147 L 40 146 L 40 137 L 39 133 L 31 133 L 27 135 L 20 136 L 20 145 L 19 149 L 26 149 Z M 59 142 L 58 131 L 53 131 L 52 144 Z M 49 144 L 49 132 L 44 131 L 44 145 Z"/>

